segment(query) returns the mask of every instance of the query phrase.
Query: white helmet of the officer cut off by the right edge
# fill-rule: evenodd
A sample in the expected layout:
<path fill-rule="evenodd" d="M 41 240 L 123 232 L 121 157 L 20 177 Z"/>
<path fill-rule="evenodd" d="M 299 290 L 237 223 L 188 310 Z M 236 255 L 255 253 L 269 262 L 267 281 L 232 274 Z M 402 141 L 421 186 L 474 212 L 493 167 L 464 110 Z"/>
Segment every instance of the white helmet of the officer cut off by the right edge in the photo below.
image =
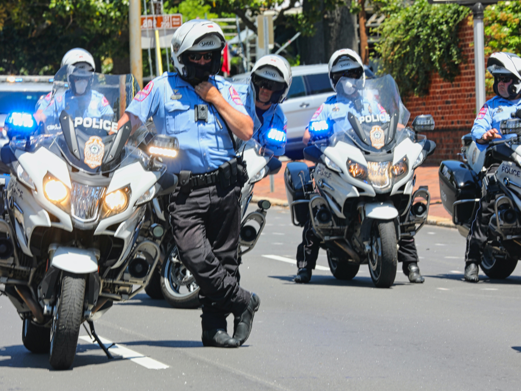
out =
<path fill-rule="evenodd" d="M 511 77 L 512 84 L 508 86 L 508 96 L 514 99 L 521 93 L 521 58 L 513 53 L 492 53 L 487 61 L 487 70 L 494 76 L 494 92 L 499 95 L 499 78 Z"/>

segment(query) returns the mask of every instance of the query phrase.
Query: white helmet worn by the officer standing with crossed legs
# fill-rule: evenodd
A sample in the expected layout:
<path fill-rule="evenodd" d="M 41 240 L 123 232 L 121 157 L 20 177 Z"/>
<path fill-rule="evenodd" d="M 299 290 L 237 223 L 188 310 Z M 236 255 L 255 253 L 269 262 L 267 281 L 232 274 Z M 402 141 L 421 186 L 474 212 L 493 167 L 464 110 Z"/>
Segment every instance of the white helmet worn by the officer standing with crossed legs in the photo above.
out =
<path fill-rule="evenodd" d="M 189 82 L 201 79 L 201 75 L 196 75 L 196 68 L 202 67 L 192 63 L 189 55 L 196 55 L 193 52 L 209 52 L 212 53 L 212 62 L 205 66 L 204 73 L 208 76 L 216 75 L 221 66 L 221 51 L 225 44 L 225 35 L 217 23 L 204 19 L 189 20 L 173 33 L 170 46 L 173 66 L 179 76 Z"/>

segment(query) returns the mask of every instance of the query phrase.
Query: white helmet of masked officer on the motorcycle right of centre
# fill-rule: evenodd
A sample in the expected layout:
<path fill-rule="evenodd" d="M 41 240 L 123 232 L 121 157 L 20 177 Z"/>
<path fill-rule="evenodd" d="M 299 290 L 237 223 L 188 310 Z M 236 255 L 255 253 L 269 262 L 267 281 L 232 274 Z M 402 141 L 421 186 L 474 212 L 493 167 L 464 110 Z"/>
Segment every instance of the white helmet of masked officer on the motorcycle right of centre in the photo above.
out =
<path fill-rule="evenodd" d="M 364 63 L 362 58 L 351 49 L 340 49 L 329 59 L 329 82 L 334 92 L 351 95 L 365 85 Z M 337 84 L 342 80 L 342 89 L 337 91 Z"/>

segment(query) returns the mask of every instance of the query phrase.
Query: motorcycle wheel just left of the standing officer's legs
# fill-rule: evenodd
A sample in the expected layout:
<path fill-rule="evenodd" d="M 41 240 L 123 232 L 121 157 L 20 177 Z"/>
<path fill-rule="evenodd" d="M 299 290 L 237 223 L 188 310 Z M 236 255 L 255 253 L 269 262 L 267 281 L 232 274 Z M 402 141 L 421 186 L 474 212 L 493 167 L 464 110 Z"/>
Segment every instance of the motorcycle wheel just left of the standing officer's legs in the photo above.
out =
<path fill-rule="evenodd" d="M 161 290 L 173 308 L 199 308 L 199 285 L 179 261 L 177 246 L 173 246 L 161 267 Z"/>

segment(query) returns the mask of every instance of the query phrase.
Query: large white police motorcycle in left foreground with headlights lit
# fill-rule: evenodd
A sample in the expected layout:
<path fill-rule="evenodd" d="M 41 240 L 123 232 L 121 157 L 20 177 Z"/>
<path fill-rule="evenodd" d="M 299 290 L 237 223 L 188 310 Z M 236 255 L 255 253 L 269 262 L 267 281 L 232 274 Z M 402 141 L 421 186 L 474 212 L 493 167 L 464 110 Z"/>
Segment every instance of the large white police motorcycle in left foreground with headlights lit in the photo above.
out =
<path fill-rule="evenodd" d="M 67 76 L 66 67 L 55 76 L 53 100 L 66 100 Z M 90 82 L 111 118 L 85 116 L 95 113 L 93 101 L 80 97 L 74 110 L 66 100 L 65 110 L 46 113 L 40 133 L 52 134 L 36 134 L 31 113 L 5 122 L 11 140 L 2 156 L 12 174 L 0 218 L 0 283 L 23 320 L 24 346 L 48 352 L 55 369 L 72 364 L 85 321 L 111 358 L 93 321 L 152 275 L 160 251 L 141 230 L 166 170 L 154 155 L 178 150 L 177 139 L 152 137 L 149 157 L 127 143 L 130 123 L 117 129 L 135 91 L 132 75 L 92 74 Z"/>

